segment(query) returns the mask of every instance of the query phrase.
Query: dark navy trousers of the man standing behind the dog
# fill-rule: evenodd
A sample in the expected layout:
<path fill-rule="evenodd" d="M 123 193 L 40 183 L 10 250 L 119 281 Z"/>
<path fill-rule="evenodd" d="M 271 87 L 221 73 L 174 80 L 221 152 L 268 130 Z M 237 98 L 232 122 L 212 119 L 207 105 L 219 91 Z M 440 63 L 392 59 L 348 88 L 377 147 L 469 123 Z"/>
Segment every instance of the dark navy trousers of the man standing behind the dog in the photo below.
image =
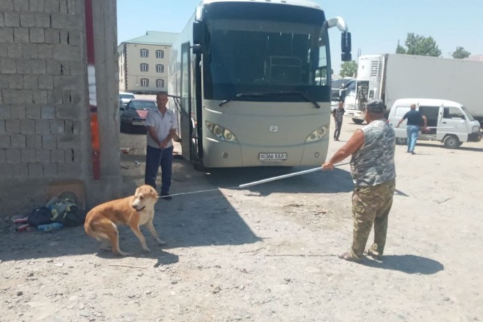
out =
<path fill-rule="evenodd" d="M 156 147 L 148 145 L 146 149 L 145 184 L 149 184 L 156 189 L 156 177 L 158 177 L 158 168 L 161 166 L 161 193 L 169 194 L 172 165 L 173 147 L 156 149 Z"/>

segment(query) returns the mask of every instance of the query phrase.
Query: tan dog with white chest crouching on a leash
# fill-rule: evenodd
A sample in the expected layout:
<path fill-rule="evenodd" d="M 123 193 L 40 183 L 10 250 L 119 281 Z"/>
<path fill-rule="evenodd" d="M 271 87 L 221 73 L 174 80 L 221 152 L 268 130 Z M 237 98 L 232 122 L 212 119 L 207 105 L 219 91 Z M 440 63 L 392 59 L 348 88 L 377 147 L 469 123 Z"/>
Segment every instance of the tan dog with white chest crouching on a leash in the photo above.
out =
<path fill-rule="evenodd" d="M 157 201 L 158 193 L 152 186 L 147 184 L 140 186 L 136 189 L 134 195 L 104 202 L 104 204 L 92 208 L 85 216 L 85 232 L 102 242 L 101 249 L 106 250 L 110 241 L 115 255 L 126 256 L 130 254 L 119 248 L 117 225 L 128 225 L 141 242 L 142 249 L 149 252 L 145 236 L 139 230 L 141 225 L 147 225 L 147 229 L 160 245 L 166 244 L 159 239 L 156 230 L 154 230 L 154 204 Z"/>

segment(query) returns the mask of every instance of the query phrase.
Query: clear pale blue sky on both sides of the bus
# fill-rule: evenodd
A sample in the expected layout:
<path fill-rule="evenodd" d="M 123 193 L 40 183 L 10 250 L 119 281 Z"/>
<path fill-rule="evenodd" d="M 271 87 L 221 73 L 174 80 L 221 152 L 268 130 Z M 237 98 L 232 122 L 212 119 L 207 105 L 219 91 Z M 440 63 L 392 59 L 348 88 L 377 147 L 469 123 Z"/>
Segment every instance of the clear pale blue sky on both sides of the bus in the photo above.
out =
<path fill-rule="evenodd" d="M 199 0 L 117 0 L 117 42 L 146 31 L 179 33 Z M 352 59 L 358 51 L 393 54 L 404 46 L 407 33 L 432 37 L 441 56 L 450 58 L 457 46 L 472 55 L 483 54 L 483 0 L 315 0 L 327 18 L 341 16 L 352 33 Z M 341 35 L 329 32 L 332 67 L 341 67 Z M 405 46 L 404 46 L 405 47 Z"/>

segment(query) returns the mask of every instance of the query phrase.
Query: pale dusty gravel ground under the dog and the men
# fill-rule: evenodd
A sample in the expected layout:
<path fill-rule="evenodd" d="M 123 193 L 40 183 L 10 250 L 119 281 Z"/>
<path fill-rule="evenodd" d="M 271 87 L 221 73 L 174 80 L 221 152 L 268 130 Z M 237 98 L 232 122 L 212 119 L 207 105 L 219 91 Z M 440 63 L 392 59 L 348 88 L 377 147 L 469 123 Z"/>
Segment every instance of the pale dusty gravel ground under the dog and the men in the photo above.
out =
<path fill-rule="evenodd" d="M 343 145 L 359 126 L 344 120 Z M 331 131 L 333 130 L 333 127 Z M 142 136 L 124 136 L 124 190 L 143 181 Z M 176 159 L 152 252 L 97 252 L 82 227 L 19 234 L 2 223 L 0 321 L 483 321 L 483 143 L 397 146 L 384 261 L 335 255 L 352 239 L 347 165 L 245 189 L 291 170 L 196 172 Z M 127 150 L 126 150 L 127 151 Z M 370 237 L 371 239 L 372 237 Z"/>

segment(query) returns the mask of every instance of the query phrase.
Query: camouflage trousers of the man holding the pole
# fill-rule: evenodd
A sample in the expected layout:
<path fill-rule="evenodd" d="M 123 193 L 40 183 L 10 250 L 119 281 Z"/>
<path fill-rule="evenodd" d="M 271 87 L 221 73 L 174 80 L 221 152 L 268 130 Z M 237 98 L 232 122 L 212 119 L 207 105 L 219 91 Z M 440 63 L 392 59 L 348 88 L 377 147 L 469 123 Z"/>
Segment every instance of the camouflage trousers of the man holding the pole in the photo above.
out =
<path fill-rule="evenodd" d="M 370 250 L 382 255 L 386 245 L 389 211 L 393 205 L 395 179 L 377 186 L 357 186 L 352 193 L 354 233 L 352 256 L 361 258 L 374 225 L 374 243 Z"/>

